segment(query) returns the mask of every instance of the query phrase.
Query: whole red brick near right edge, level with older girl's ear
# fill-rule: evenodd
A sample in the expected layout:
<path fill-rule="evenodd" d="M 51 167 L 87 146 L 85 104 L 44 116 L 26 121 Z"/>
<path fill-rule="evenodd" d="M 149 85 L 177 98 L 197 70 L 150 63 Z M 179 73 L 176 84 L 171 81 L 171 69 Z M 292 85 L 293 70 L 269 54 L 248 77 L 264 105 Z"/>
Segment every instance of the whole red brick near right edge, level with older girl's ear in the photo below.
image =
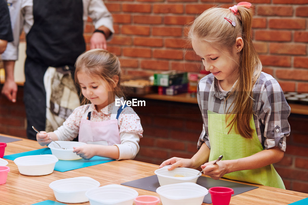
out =
<path fill-rule="evenodd" d="M 306 45 L 298 43 L 270 43 L 270 53 L 306 55 Z"/>

